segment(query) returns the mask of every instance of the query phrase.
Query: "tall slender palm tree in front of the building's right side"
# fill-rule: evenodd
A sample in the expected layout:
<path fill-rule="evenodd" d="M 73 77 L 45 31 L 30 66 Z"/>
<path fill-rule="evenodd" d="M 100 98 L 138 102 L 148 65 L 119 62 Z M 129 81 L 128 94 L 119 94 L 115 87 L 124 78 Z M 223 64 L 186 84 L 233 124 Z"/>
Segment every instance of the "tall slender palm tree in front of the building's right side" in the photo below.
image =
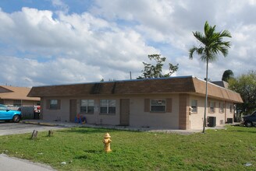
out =
<path fill-rule="evenodd" d="M 196 52 L 200 57 L 201 61 L 206 61 L 206 89 L 205 89 L 205 101 L 204 101 L 204 125 L 203 133 L 205 133 L 206 124 L 206 108 L 208 98 L 208 63 L 216 61 L 217 55 L 222 54 L 224 57 L 229 53 L 228 48 L 230 47 L 229 41 L 223 41 L 223 37 L 231 37 L 228 30 L 221 32 L 215 32 L 215 26 L 209 26 L 206 21 L 204 24 L 204 33 L 193 32 L 194 37 L 200 41 L 199 47 L 192 47 L 189 51 L 190 59 L 193 59 L 193 54 Z"/>

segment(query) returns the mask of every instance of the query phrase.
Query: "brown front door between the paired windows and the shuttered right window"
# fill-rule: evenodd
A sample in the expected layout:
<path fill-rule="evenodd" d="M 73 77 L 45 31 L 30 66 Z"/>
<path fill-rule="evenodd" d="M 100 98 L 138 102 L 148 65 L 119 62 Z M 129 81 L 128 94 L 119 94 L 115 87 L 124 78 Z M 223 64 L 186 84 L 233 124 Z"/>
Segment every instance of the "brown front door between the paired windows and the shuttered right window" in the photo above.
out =
<path fill-rule="evenodd" d="M 120 125 L 130 124 L 130 99 L 120 100 Z"/>

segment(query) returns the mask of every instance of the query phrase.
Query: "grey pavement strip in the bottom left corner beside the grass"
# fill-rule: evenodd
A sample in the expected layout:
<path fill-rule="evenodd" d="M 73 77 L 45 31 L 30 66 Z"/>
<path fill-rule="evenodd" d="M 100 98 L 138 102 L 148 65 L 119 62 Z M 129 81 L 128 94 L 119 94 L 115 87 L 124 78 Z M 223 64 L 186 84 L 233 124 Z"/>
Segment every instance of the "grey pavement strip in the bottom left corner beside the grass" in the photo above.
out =
<path fill-rule="evenodd" d="M 51 166 L 46 166 L 41 163 L 30 162 L 25 159 L 17 159 L 13 157 L 9 157 L 8 155 L 1 154 L 0 155 L 0 170 L 5 171 L 52 171 Z"/>

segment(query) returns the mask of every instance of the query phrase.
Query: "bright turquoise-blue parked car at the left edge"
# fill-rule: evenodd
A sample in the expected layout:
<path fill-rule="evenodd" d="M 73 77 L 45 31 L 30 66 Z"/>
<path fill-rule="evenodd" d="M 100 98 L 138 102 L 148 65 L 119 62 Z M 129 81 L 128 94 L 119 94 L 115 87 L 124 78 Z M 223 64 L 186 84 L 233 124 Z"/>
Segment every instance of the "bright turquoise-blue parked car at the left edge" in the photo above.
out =
<path fill-rule="evenodd" d="M 13 120 L 20 122 L 21 112 L 18 110 L 9 110 L 5 105 L 0 104 L 0 120 Z"/>

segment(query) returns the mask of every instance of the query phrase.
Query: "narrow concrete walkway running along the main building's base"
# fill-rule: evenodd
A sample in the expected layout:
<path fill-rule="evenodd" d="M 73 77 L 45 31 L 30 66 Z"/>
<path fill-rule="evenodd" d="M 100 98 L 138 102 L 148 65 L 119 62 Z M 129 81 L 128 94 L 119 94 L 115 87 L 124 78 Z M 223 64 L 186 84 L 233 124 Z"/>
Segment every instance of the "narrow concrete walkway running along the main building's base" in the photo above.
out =
<path fill-rule="evenodd" d="M 96 125 L 96 124 L 78 124 L 72 122 L 61 122 L 61 121 L 44 121 L 44 120 L 22 120 L 23 124 L 39 124 L 45 126 L 59 126 L 59 127 L 94 127 L 94 128 L 106 128 L 106 129 L 117 129 L 125 131 L 148 131 L 148 132 L 162 132 L 168 134 L 194 134 L 201 132 L 202 130 L 169 130 L 165 128 L 156 127 L 130 127 L 130 126 L 112 126 L 112 125 Z M 206 127 L 206 129 L 225 129 L 225 125 L 220 127 Z"/>

